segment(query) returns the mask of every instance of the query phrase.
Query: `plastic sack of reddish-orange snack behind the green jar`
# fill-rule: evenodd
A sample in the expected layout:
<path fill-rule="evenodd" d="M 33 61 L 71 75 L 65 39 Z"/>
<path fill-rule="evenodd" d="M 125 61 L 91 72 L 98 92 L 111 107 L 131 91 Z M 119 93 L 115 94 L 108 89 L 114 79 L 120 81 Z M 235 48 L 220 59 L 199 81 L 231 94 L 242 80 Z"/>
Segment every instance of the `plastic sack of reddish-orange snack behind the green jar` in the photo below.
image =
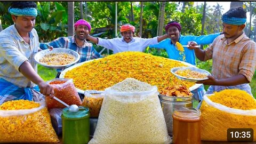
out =
<path fill-rule="evenodd" d="M 47 82 L 54 87 L 54 96 L 67 103 L 68 105 L 78 105 L 82 104 L 82 101 L 77 93 L 76 87 L 73 83 L 73 79 L 66 78 L 55 78 Z M 46 97 L 47 108 L 65 108 L 66 106 L 62 105 L 57 100 L 54 100 L 50 97 Z"/>

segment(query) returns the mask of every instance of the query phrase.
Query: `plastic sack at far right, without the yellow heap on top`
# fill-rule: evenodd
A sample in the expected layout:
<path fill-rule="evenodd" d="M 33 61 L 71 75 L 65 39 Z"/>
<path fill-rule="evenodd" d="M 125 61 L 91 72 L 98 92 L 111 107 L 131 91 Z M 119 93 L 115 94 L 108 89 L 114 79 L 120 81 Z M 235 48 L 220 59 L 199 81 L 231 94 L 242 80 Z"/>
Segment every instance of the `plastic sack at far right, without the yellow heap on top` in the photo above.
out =
<path fill-rule="evenodd" d="M 211 101 L 204 95 L 200 108 L 202 117 L 201 139 L 205 141 L 227 141 L 229 128 L 252 128 L 256 140 L 256 109 L 241 110 L 226 107 Z"/>

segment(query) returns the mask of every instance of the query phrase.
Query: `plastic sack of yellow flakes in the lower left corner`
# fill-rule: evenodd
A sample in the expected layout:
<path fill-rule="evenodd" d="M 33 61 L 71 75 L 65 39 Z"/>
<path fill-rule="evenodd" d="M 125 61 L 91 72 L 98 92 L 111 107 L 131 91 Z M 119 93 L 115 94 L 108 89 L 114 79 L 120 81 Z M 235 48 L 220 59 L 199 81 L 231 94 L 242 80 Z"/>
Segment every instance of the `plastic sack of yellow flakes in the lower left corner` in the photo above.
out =
<path fill-rule="evenodd" d="M 15 100 L 15 102 L 22 103 L 23 101 Z M 59 142 L 45 102 L 38 103 L 39 107 L 35 108 L 24 106 L 29 109 L 0 110 L 0 143 Z M 10 107 L 15 107 L 15 105 L 10 105 Z"/>

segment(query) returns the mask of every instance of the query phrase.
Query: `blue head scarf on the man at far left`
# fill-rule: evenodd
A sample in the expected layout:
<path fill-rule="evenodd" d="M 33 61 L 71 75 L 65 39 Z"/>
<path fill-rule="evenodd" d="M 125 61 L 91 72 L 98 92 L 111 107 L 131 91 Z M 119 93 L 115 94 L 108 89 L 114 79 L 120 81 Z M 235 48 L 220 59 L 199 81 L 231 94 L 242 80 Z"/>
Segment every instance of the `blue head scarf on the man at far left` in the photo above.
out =
<path fill-rule="evenodd" d="M 9 13 L 16 16 L 32 16 L 32 17 L 37 16 L 37 10 L 34 7 L 27 7 L 24 9 L 9 7 L 8 11 Z"/>

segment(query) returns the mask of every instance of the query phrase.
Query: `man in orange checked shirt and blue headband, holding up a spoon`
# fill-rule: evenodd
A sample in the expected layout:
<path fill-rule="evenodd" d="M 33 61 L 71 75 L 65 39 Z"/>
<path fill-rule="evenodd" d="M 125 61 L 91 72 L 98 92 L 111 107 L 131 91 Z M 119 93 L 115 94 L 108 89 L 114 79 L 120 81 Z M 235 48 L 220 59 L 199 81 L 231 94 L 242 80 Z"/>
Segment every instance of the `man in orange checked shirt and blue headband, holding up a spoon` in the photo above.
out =
<path fill-rule="evenodd" d="M 191 42 L 201 61 L 212 59 L 212 76 L 198 83 L 211 85 L 206 93 L 225 89 L 240 89 L 252 95 L 249 83 L 256 68 L 256 43 L 247 37 L 246 12 L 242 7 L 230 9 L 222 15 L 223 35 L 214 39 L 206 50 L 197 49 Z"/>

